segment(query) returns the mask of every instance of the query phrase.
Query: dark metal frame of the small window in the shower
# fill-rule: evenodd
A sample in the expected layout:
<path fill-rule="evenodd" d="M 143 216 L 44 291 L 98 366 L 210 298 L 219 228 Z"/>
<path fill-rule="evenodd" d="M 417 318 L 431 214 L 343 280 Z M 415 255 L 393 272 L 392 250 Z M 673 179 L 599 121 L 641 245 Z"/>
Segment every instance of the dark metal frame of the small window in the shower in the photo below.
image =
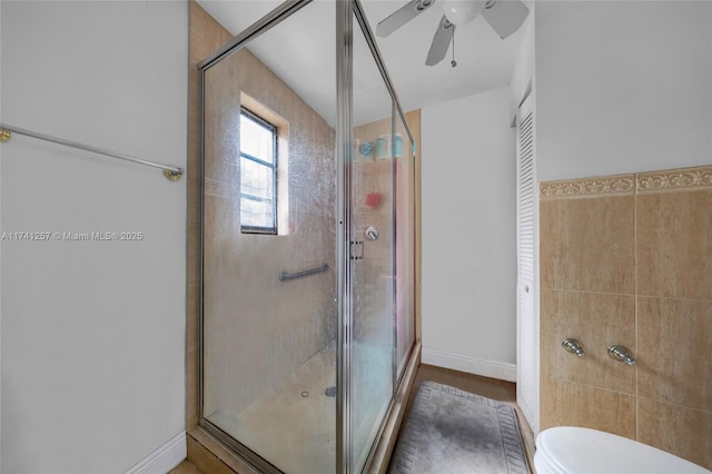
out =
<path fill-rule="evenodd" d="M 243 117 L 246 117 L 247 119 L 256 122 L 258 126 L 267 129 L 270 134 L 271 134 L 271 140 L 273 140 L 273 162 L 269 161 L 265 161 L 264 159 L 261 159 L 260 157 L 256 157 L 254 155 L 247 154 L 243 151 L 243 147 L 240 146 L 240 168 L 241 168 L 241 160 L 243 158 L 248 159 L 259 166 L 264 166 L 266 168 L 269 168 L 271 170 L 271 177 L 273 177 L 273 192 L 271 192 L 271 226 L 269 227 L 264 227 L 264 226 L 250 226 L 250 225 L 245 225 L 243 224 L 243 199 L 250 199 L 250 200 L 255 200 L 255 201 L 266 201 L 268 199 L 261 198 L 259 196 L 255 196 L 255 195 L 249 195 L 246 192 L 243 192 L 243 181 L 241 181 L 241 171 L 240 171 L 240 231 L 243 234 L 263 234 L 263 235 L 277 235 L 278 234 L 278 223 L 279 223 L 279 218 L 277 216 L 277 209 L 278 209 L 278 204 L 277 204 L 277 199 L 278 199 L 278 182 L 277 182 L 277 175 L 278 175 L 278 167 L 279 167 L 279 150 L 277 149 L 278 146 L 278 127 L 275 124 L 271 124 L 269 120 L 264 119 L 263 117 L 260 117 L 259 115 L 255 113 L 254 111 L 251 111 L 250 109 L 248 109 L 245 106 L 240 107 L 240 121 L 243 119 Z M 241 135 L 243 135 L 243 130 L 240 128 L 240 141 L 241 141 Z"/>

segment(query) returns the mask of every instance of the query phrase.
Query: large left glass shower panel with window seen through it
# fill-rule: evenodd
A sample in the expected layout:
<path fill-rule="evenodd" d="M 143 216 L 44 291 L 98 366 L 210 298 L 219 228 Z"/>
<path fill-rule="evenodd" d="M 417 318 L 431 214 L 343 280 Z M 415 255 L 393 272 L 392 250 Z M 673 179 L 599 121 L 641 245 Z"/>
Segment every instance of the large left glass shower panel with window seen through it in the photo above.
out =
<path fill-rule="evenodd" d="M 334 2 L 294 12 L 202 80 L 201 424 L 260 472 L 336 472 L 336 91 L 289 73 L 335 55 L 280 55 L 314 24 L 309 38 L 332 45 Z"/>

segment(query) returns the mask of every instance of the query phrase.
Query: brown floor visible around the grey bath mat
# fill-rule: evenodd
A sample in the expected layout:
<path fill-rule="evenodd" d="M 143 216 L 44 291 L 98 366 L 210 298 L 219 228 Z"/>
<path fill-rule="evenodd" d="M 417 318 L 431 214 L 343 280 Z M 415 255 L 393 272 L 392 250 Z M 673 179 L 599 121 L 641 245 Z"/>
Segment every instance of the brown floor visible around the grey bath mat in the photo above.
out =
<path fill-rule="evenodd" d="M 411 393 L 408 407 L 406 408 L 406 411 L 411 409 L 411 404 L 413 403 L 413 398 L 415 398 L 417 387 L 423 381 L 437 382 L 500 402 L 511 403 L 515 407 L 518 415 L 520 426 L 522 428 L 522 436 L 524 441 L 524 448 L 527 453 L 530 466 L 533 465 L 532 460 L 534 455 L 534 434 L 532 432 L 532 428 L 526 423 L 526 419 L 524 419 L 524 416 L 522 416 L 521 411 L 516 406 L 516 384 L 512 382 L 482 377 L 479 375 L 451 371 L 447 368 L 435 367 L 432 365 L 421 365 L 415 376 L 415 384 L 413 385 L 413 392 Z M 194 466 L 190 462 L 184 461 L 180 465 L 170 471 L 169 474 L 209 473 L 200 473 L 200 471 L 198 471 L 196 466 Z"/>

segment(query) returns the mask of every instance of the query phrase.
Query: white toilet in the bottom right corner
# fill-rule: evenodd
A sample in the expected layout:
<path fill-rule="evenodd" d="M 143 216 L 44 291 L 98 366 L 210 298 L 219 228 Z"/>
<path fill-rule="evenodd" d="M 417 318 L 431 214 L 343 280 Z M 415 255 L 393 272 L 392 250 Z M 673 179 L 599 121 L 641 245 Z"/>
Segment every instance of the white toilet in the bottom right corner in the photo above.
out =
<path fill-rule="evenodd" d="M 573 426 L 557 426 L 538 434 L 534 467 L 537 474 L 712 473 L 646 444 Z"/>

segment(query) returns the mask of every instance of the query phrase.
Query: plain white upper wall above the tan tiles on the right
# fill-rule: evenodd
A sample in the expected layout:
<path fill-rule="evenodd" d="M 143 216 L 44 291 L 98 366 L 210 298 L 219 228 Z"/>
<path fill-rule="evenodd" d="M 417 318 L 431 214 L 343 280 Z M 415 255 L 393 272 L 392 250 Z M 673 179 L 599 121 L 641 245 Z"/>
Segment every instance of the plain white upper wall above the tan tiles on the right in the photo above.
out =
<path fill-rule="evenodd" d="M 712 2 L 537 1 L 538 178 L 712 162 Z"/>

